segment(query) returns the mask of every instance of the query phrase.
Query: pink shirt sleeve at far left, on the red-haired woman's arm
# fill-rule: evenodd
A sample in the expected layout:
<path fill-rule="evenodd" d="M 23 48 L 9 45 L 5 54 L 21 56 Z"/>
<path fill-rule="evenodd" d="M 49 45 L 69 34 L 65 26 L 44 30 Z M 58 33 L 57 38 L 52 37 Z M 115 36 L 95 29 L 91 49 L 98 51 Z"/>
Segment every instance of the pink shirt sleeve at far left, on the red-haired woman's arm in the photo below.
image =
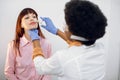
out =
<path fill-rule="evenodd" d="M 4 74 L 8 80 L 18 80 L 15 76 L 15 54 L 12 43 L 8 44 Z"/>

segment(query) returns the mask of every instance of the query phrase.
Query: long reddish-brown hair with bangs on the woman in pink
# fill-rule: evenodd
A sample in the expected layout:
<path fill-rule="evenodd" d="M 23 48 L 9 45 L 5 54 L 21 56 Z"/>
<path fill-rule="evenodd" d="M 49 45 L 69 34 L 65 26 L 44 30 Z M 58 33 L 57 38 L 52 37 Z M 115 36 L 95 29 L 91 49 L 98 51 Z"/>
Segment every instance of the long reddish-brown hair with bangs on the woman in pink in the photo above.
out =
<path fill-rule="evenodd" d="M 16 54 L 16 55 L 19 55 L 19 56 L 21 56 L 20 50 L 19 50 L 20 38 L 21 38 L 21 37 L 23 36 L 23 34 L 25 33 L 24 28 L 21 27 L 21 20 L 22 20 L 22 18 L 23 18 L 25 15 L 27 15 L 27 14 L 29 14 L 29 13 L 35 14 L 36 17 L 37 17 L 37 19 L 38 19 L 38 14 L 37 14 L 36 11 L 33 10 L 32 8 L 25 8 L 25 9 L 23 9 L 23 10 L 20 12 L 20 14 L 19 14 L 19 16 L 18 16 L 18 18 L 17 18 L 16 30 L 15 30 L 15 39 L 14 39 L 14 48 L 15 48 L 15 54 Z M 37 30 L 38 30 L 38 35 L 39 35 L 40 37 L 42 37 L 42 38 L 45 38 L 44 35 L 43 35 L 43 33 L 41 32 L 41 29 L 40 29 L 39 24 L 38 24 Z"/>

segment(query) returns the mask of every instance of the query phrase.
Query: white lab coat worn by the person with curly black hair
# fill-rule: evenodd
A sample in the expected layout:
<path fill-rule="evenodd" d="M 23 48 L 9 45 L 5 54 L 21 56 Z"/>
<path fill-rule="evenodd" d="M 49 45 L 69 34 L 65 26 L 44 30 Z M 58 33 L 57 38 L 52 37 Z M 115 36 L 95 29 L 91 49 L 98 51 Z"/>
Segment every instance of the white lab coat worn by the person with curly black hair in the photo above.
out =
<path fill-rule="evenodd" d="M 103 80 L 105 51 L 102 44 L 72 46 L 57 51 L 51 58 L 36 57 L 39 74 L 53 74 L 58 80 Z"/>

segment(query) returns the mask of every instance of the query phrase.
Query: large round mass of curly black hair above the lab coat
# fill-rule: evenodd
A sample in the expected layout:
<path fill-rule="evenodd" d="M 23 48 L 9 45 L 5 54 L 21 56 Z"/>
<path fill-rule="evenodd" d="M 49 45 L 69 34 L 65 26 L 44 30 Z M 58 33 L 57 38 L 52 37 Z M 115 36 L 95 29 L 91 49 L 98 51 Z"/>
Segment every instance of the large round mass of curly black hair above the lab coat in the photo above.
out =
<path fill-rule="evenodd" d="M 64 12 L 69 31 L 89 40 L 84 44 L 91 45 L 104 36 L 107 19 L 96 4 L 87 0 L 71 0 L 66 3 Z"/>

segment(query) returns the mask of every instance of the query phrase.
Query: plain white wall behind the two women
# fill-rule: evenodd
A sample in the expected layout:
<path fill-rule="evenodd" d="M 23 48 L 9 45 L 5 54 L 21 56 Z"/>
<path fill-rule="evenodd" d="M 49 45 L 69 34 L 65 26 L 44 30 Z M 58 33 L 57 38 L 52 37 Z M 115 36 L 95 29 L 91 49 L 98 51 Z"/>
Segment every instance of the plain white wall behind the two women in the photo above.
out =
<path fill-rule="evenodd" d="M 69 0 L 0 0 L 0 80 L 5 80 L 4 64 L 7 44 L 14 39 L 18 14 L 26 7 L 33 8 L 39 16 L 50 17 L 56 27 L 62 30 L 64 21 L 64 5 Z M 91 0 L 99 5 L 108 18 L 108 26 L 103 42 L 106 47 L 106 77 L 105 80 L 120 80 L 120 1 L 119 0 Z M 42 29 L 46 38 L 52 44 L 53 53 L 67 47 L 59 37 Z M 55 79 L 55 77 L 54 77 Z M 56 80 L 56 79 L 55 79 Z"/>

